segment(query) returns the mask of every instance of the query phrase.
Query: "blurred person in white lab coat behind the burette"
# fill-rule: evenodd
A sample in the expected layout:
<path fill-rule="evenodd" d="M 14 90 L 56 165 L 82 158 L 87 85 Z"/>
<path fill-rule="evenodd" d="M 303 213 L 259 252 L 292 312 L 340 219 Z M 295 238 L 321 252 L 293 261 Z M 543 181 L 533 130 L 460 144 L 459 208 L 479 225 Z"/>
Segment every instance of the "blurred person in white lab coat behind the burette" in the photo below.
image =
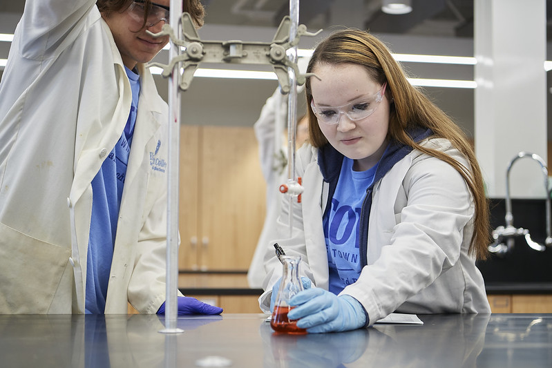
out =
<path fill-rule="evenodd" d="M 303 88 L 298 88 L 298 90 L 302 92 Z M 269 230 L 272 228 L 272 224 L 276 222 L 276 217 L 280 212 L 280 197 L 283 197 L 283 194 L 279 190 L 280 185 L 287 183 L 287 129 L 283 132 L 278 131 L 278 124 L 276 124 L 276 120 L 279 118 L 287 126 L 286 101 L 287 95 L 282 95 L 280 88 L 276 88 L 260 110 L 260 116 L 253 126 L 259 146 L 260 168 L 267 182 L 267 196 L 263 230 L 260 233 L 255 253 L 249 265 L 249 271 L 247 271 L 247 282 L 251 288 L 263 286 L 263 280 L 266 275 L 263 265 L 265 253 L 270 251 L 270 249 L 274 251 L 274 247 L 270 244 L 270 240 L 273 239 L 274 234 L 269 233 Z M 307 119 L 307 115 L 303 115 L 298 119 L 295 139 L 296 148 L 301 147 L 307 142 Z M 282 135 L 281 142 L 285 143 L 285 145 L 276 150 L 276 135 L 279 134 Z"/>

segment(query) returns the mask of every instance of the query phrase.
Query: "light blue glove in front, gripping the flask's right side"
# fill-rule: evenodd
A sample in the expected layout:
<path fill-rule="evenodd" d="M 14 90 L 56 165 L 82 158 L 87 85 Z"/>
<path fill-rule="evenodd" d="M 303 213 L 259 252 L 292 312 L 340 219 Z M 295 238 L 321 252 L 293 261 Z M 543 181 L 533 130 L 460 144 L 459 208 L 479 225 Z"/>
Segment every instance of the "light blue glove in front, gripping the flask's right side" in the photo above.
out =
<path fill-rule="evenodd" d="M 301 291 L 289 300 L 289 305 L 297 306 L 287 313 L 289 319 L 298 320 L 297 327 L 309 333 L 349 331 L 368 322 L 358 300 L 348 295 L 336 296 L 318 287 Z"/>

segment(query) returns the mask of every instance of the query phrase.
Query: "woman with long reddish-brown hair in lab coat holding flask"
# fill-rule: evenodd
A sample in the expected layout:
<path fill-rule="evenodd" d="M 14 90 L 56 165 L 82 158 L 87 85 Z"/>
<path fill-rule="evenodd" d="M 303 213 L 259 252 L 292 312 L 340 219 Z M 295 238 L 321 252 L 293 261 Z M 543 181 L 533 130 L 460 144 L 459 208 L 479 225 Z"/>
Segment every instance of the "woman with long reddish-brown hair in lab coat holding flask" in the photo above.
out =
<path fill-rule="evenodd" d="M 475 266 L 490 244 L 488 204 L 472 146 L 410 85 L 390 50 L 341 30 L 314 50 L 305 85 L 310 144 L 286 238 L 307 289 L 288 317 L 310 333 L 368 326 L 392 312 L 490 313 Z M 267 253 L 260 307 L 269 312 L 282 265 Z M 310 283 L 316 287 L 310 287 Z"/>

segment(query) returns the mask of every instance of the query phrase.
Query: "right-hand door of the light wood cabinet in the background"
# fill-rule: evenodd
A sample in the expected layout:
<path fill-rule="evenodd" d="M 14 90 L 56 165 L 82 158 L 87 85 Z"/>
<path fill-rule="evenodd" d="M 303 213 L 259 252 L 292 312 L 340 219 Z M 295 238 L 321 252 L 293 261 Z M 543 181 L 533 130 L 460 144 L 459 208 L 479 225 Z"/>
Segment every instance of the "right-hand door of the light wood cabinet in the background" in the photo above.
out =
<path fill-rule="evenodd" d="M 252 127 L 202 127 L 200 268 L 247 271 L 265 220 Z"/>

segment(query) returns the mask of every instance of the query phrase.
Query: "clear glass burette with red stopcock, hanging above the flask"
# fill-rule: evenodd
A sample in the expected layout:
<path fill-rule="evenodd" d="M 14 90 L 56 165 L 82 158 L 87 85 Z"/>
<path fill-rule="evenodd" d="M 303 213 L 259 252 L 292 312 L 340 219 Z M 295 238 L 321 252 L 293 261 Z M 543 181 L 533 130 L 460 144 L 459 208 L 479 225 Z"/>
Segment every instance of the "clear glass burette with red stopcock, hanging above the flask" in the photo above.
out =
<path fill-rule="evenodd" d="M 297 37 L 297 28 L 299 26 L 299 0 L 289 0 L 289 41 L 293 41 Z M 287 58 L 292 63 L 297 63 L 297 46 L 287 50 Z M 289 95 L 287 95 L 287 182 L 291 188 L 296 184 L 295 175 L 295 139 L 297 125 L 297 76 L 293 68 L 287 68 L 289 77 Z M 294 195 L 289 195 L 289 238 L 293 232 L 293 202 L 296 198 Z"/>

